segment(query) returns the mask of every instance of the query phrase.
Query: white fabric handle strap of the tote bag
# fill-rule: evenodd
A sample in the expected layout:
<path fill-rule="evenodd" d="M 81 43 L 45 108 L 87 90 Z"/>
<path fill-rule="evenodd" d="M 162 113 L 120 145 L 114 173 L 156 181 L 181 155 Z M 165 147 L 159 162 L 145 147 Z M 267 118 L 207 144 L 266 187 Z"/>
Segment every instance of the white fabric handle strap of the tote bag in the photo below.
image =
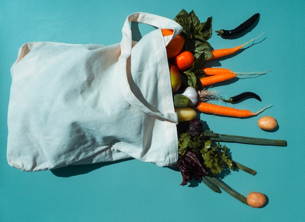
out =
<path fill-rule="evenodd" d="M 162 118 L 164 120 L 177 122 L 177 115 L 175 113 L 161 113 L 161 112 L 153 111 L 151 108 L 143 104 L 134 95 L 131 89 L 131 86 L 128 81 L 128 79 L 131 76 L 131 64 L 130 64 L 130 56 L 132 52 L 132 31 L 130 28 L 131 21 L 149 24 L 157 28 L 160 28 L 162 26 L 162 27 L 166 27 L 167 29 L 172 29 L 173 34 L 170 36 L 166 36 L 166 38 L 164 38 L 166 45 L 182 31 L 182 27 L 174 20 L 167 19 L 161 16 L 157 16 L 149 13 L 143 13 L 143 12 L 133 13 L 128 16 L 122 28 L 123 37 L 121 41 L 121 55 L 119 58 L 119 60 L 121 60 L 121 65 L 124 66 L 122 67 L 124 73 L 120 81 L 120 87 L 123 92 L 125 100 L 128 101 L 133 107 L 142 111 L 143 113 L 158 118 Z"/>

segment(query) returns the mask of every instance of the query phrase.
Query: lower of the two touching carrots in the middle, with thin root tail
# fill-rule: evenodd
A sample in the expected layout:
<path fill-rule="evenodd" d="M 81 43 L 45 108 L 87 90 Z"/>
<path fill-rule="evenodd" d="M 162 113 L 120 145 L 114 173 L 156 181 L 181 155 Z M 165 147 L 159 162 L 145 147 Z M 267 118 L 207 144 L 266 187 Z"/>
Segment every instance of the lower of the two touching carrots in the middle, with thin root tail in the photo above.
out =
<path fill-rule="evenodd" d="M 269 71 L 267 71 L 267 72 L 269 72 Z M 216 75 L 213 75 L 213 76 L 203 77 L 203 78 L 200 79 L 200 81 L 201 81 L 201 86 L 207 86 L 207 85 L 212 85 L 212 84 L 215 84 L 215 83 L 231 80 L 231 79 L 233 79 L 235 77 L 245 77 L 245 76 L 255 77 L 255 76 L 264 75 L 267 72 L 253 73 L 253 74 L 249 74 L 249 75 L 244 75 L 244 74 L 237 75 L 237 74 L 232 73 L 232 72 L 221 73 L 221 74 L 216 74 Z"/>

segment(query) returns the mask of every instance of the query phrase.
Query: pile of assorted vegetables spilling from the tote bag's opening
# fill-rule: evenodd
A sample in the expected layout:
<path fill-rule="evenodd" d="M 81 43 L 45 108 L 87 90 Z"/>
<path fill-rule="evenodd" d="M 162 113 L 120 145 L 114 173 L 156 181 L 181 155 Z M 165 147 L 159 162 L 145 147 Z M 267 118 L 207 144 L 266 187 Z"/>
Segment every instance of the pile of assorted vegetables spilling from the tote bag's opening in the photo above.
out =
<path fill-rule="evenodd" d="M 222 29 L 216 32 L 224 39 L 241 34 L 247 31 L 257 21 L 258 17 L 259 14 L 257 13 L 233 30 Z M 183 31 L 167 46 L 173 102 L 179 121 L 177 124 L 179 149 L 177 166 L 183 179 L 181 185 L 188 184 L 192 179 L 201 180 L 215 192 L 221 193 L 221 188 L 245 204 L 252 207 L 262 207 L 266 202 L 266 198 L 264 202 L 264 194 L 255 192 L 256 196 L 254 198 L 252 192 L 252 196 L 249 194 L 247 199 L 219 179 L 219 174 L 228 175 L 230 170 L 243 170 L 251 175 L 256 174 L 255 170 L 233 161 L 229 148 L 220 142 L 286 146 L 286 141 L 216 134 L 209 130 L 203 130 L 200 117 L 196 118 L 198 113 L 249 118 L 271 107 L 271 105 L 268 105 L 257 112 L 251 112 L 213 104 L 213 101 L 236 104 L 250 98 L 258 101 L 262 100 L 253 92 L 243 92 L 225 100 L 217 92 L 210 91 L 210 87 L 216 83 L 237 77 L 256 77 L 264 75 L 270 70 L 237 73 L 226 68 L 205 66 L 206 61 L 233 55 L 261 35 L 234 48 L 212 50 L 208 42 L 212 35 L 211 17 L 206 22 L 200 22 L 194 11 L 188 13 L 183 9 L 174 20 L 183 28 Z M 164 36 L 171 35 L 172 30 L 162 29 L 162 33 Z M 251 200 L 251 203 L 249 203 L 249 200 Z M 259 203 L 255 203 L 255 200 L 259 200 Z"/>

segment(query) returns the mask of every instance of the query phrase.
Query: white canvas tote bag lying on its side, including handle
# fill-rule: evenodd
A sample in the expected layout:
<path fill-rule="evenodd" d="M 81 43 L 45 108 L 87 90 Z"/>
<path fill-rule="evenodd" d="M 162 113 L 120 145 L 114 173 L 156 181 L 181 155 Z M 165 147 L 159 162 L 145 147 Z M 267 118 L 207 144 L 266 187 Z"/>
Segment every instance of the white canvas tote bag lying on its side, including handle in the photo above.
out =
<path fill-rule="evenodd" d="M 159 29 L 133 46 L 131 21 Z M 160 28 L 173 35 L 163 37 Z M 126 158 L 175 164 L 177 115 L 165 47 L 181 30 L 173 20 L 138 12 L 114 45 L 22 45 L 11 68 L 8 163 L 23 171 Z"/>

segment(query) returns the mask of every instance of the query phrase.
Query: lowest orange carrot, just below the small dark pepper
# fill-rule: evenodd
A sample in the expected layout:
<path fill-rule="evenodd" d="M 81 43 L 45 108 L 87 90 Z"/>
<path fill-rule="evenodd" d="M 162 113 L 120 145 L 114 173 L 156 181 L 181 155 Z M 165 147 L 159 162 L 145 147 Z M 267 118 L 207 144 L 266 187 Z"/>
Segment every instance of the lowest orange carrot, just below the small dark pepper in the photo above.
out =
<path fill-rule="evenodd" d="M 245 109 L 235 109 L 232 107 L 216 105 L 216 104 L 212 104 L 212 103 L 208 103 L 208 102 L 199 102 L 199 104 L 197 106 L 197 110 L 199 112 L 206 113 L 206 114 L 243 118 L 243 117 L 256 116 L 271 106 L 272 106 L 272 104 L 264 107 L 263 109 L 261 109 L 260 111 L 258 111 L 256 113 L 252 113 L 251 111 L 245 110 Z"/>

